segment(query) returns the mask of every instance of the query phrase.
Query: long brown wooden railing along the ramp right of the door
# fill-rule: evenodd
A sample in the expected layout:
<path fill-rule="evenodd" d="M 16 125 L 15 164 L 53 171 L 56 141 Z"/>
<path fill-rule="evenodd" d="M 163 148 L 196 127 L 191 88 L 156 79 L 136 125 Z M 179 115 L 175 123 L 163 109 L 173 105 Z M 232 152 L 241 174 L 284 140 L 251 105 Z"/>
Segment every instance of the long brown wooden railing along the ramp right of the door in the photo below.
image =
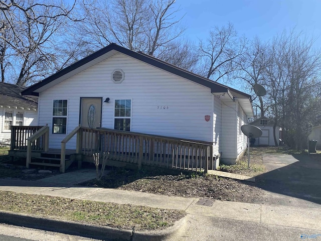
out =
<path fill-rule="evenodd" d="M 85 156 L 109 152 L 109 159 L 141 165 L 205 171 L 213 168 L 213 144 L 112 129 L 78 130 L 77 146 Z"/>

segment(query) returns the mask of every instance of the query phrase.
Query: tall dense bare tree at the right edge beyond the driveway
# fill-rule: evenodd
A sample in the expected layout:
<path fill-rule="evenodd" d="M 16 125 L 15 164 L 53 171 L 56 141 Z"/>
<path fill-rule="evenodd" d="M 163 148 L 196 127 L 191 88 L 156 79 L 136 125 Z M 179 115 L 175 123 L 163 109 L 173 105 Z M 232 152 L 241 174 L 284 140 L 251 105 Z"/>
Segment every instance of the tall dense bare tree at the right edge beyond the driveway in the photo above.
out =
<path fill-rule="evenodd" d="M 320 116 L 321 52 L 313 38 L 285 31 L 273 40 L 267 69 L 271 109 L 279 120 L 287 144 L 303 150 L 312 120 Z"/>

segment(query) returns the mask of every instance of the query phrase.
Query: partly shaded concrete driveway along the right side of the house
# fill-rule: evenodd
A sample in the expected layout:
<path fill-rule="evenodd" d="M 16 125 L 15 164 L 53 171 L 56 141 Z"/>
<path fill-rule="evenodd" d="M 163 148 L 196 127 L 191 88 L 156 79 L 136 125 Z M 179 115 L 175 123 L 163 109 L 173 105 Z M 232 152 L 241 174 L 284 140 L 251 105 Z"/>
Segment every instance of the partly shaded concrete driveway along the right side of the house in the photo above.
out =
<path fill-rule="evenodd" d="M 267 172 L 254 185 L 265 190 L 260 203 L 320 208 L 321 157 L 263 154 Z"/>

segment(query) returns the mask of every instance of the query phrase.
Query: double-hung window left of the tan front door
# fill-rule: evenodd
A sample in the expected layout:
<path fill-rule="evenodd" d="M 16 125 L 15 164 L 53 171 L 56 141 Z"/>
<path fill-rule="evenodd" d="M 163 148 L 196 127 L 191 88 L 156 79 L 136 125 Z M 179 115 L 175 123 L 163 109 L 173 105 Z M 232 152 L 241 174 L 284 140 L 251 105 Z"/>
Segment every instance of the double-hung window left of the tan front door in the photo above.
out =
<path fill-rule="evenodd" d="M 67 100 L 55 99 L 53 105 L 52 133 L 66 134 Z"/>

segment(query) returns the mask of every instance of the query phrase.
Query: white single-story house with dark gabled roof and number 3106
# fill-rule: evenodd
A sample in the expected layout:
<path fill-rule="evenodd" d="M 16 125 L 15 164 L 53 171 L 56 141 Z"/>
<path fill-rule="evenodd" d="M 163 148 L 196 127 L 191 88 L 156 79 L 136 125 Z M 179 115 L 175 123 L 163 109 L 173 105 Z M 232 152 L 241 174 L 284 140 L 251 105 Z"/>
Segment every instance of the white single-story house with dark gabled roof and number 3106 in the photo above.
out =
<path fill-rule="evenodd" d="M 54 149 L 80 125 L 210 142 L 234 164 L 246 149 L 241 126 L 253 116 L 250 95 L 116 44 L 23 94 L 39 96 L 39 125 L 48 124 Z"/>

